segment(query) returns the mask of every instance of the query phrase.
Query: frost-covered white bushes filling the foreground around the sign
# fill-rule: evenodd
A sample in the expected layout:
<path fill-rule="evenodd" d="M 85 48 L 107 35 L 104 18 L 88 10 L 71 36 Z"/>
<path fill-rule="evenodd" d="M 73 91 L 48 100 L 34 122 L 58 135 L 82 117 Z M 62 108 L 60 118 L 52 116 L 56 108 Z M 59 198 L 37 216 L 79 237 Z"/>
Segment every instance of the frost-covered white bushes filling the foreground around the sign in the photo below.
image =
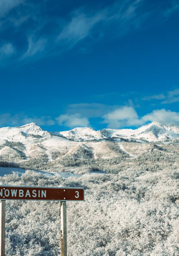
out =
<path fill-rule="evenodd" d="M 179 175 L 170 168 L 62 178 L 27 170 L 0 182 L 83 187 L 67 202 L 68 256 L 178 256 Z M 60 255 L 59 202 L 6 201 L 6 256 Z"/>

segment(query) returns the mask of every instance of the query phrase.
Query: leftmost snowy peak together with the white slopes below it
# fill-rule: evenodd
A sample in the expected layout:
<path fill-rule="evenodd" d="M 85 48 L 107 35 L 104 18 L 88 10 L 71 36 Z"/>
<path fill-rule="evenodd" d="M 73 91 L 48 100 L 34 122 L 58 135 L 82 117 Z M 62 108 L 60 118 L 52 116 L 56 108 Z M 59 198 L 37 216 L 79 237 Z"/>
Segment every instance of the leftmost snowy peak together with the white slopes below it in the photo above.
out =
<path fill-rule="evenodd" d="M 16 162 L 21 162 L 24 158 L 20 155 L 24 154 L 25 160 L 46 154 L 51 161 L 53 152 L 64 155 L 74 144 L 74 141 L 66 138 L 52 136 L 35 123 L 0 128 L 0 157 L 5 161 L 15 161 L 16 158 Z"/>

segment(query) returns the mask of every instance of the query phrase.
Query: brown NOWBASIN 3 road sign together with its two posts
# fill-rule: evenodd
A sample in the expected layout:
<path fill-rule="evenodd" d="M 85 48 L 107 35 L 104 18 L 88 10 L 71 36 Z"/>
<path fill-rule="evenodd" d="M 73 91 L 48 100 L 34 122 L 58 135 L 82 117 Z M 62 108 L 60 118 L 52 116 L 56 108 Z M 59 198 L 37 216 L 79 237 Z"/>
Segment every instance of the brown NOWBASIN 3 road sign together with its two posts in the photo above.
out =
<path fill-rule="evenodd" d="M 84 201 L 84 188 L 0 186 L 0 256 L 5 256 L 5 200 L 61 201 L 61 255 L 67 256 L 66 201 Z"/>

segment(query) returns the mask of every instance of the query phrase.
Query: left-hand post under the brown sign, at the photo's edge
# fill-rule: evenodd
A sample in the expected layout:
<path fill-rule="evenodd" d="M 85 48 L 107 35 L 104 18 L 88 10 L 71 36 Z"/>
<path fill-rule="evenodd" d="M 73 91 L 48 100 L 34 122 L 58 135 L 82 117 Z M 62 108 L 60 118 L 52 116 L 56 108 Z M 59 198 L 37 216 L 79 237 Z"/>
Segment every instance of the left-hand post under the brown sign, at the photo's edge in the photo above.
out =
<path fill-rule="evenodd" d="M 0 200 L 0 256 L 5 256 L 5 200 Z"/>

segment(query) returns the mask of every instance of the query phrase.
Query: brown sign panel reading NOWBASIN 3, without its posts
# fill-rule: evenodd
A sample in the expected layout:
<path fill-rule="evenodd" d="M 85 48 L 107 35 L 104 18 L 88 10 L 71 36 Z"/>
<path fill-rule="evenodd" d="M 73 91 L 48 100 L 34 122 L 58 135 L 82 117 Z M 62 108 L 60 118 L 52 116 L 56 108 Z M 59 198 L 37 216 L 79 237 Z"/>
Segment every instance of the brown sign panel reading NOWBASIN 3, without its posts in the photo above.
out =
<path fill-rule="evenodd" d="M 0 186 L 0 200 L 84 201 L 84 188 Z"/>

